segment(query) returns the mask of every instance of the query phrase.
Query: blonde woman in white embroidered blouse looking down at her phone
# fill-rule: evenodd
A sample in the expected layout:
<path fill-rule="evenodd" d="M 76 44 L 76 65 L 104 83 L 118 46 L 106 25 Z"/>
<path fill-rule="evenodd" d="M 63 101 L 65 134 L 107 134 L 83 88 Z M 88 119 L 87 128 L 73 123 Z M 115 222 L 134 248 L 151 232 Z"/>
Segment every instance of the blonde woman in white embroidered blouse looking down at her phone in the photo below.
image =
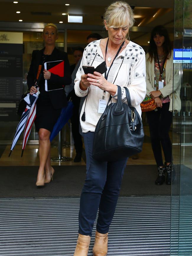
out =
<path fill-rule="evenodd" d="M 79 97 L 87 95 L 80 115 L 87 174 L 80 199 L 79 236 L 74 256 L 87 256 L 98 208 L 93 255 L 107 255 L 109 226 L 115 212 L 127 158 L 118 161 L 111 159 L 108 162 L 94 160 L 93 138 L 109 96 L 112 96 L 112 102 L 117 100 L 117 85 L 121 86 L 123 101 L 126 101 L 123 87 L 128 88 L 131 104 L 141 115 L 140 103 L 146 94 L 145 53 L 141 46 L 129 40 L 129 29 L 133 24 L 134 14 L 126 2 L 110 4 L 104 14 L 108 38 L 87 45 L 77 71 L 75 93 Z M 106 69 L 102 69 L 101 73 L 84 73 L 83 66 L 98 68 L 99 65 L 104 66 L 103 62 Z"/>

